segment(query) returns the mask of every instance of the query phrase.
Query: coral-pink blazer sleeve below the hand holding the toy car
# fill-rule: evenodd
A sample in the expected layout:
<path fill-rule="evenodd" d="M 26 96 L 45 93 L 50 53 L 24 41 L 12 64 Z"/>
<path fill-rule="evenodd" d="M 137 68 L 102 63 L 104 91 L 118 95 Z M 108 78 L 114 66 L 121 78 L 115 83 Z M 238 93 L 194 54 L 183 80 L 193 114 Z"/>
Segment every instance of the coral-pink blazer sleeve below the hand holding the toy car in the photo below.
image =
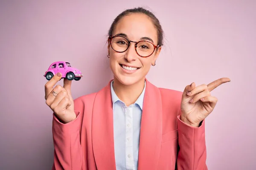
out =
<path fill-rule="evenodd" d="M 75 101 L 74 101 L 75 102 Z M 76 111 L 76 119 L 67 124 L 61 123 L 53 113 L 52 136 L 54 162 L 52 170 L 85 170 L 80 143 L 80 129 L 83 111 Z"/>

